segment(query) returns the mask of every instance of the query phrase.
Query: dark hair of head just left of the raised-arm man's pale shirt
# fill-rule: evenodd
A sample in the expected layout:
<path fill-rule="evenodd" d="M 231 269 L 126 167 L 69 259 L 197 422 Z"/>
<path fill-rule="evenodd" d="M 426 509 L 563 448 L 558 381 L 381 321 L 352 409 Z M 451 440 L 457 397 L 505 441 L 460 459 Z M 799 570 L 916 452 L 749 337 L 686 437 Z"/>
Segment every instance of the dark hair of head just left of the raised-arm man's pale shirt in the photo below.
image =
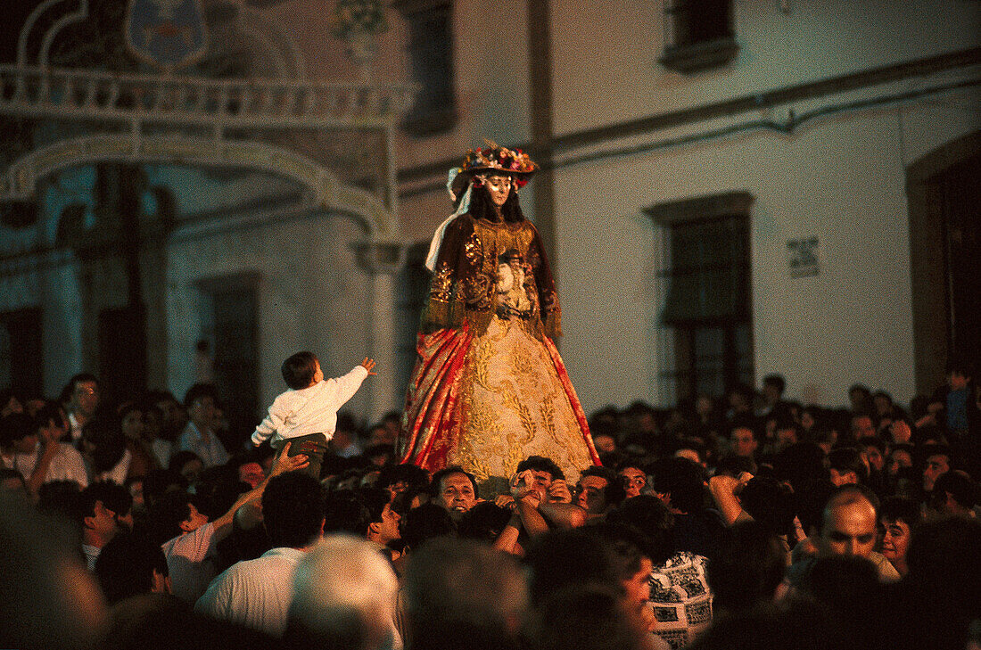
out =
<path fill-rule="evenodd" d="M 160 545 L 146 537 L 121 533 L 102 547 L 95 561 L 95 576 L 106 601 L 112 605 L 124 598 L 149 593 L 153 573 L 169 575 Z"/>

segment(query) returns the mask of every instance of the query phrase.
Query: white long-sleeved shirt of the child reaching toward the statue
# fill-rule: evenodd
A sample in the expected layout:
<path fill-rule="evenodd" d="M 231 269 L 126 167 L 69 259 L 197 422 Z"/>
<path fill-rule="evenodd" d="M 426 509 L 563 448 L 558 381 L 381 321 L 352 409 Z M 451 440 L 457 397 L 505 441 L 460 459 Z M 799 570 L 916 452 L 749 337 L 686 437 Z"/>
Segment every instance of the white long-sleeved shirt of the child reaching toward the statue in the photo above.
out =
<path fill-rule="evenodd" d="M 323 433 L 330 440 L 337 426 L 337 411 L 354 396 L 367 376 L 364 366 L 355 366 L 347 375 L 324 379 L 300 390 L 290 388 L 273 401 L 269 415 L 255 427 L 252 444 L 260 445 L 270 436 L 276 444 L 311 433 Z"/>

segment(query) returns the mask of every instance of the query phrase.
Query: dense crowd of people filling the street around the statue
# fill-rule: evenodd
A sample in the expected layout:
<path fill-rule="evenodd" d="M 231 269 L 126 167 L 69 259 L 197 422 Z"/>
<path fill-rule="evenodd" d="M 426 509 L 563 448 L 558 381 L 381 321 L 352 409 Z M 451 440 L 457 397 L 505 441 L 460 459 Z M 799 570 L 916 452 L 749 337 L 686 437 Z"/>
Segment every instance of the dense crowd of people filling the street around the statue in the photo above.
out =
<path fill-rule="evenodd" d="M 213 385 L 7 391 L 0 646 L 981 648 L 971 370 L 908 409 L 784 391 L 602 409 L 601 466 L 506 484 L 399 464 L 397 413 L 342 412 L 311 473 Z"/>

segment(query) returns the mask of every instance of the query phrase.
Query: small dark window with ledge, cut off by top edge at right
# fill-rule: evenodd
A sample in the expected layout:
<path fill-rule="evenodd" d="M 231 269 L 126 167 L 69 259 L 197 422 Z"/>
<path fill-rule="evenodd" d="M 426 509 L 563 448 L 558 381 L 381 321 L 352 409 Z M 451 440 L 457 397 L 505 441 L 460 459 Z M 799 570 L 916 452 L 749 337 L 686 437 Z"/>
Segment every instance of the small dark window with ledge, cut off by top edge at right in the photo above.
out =
<path fill-rule="evenodd" d="M 661 64 L 680 73 L 724 66 L 739 52 L 732 0 L 665 0 Z"/>

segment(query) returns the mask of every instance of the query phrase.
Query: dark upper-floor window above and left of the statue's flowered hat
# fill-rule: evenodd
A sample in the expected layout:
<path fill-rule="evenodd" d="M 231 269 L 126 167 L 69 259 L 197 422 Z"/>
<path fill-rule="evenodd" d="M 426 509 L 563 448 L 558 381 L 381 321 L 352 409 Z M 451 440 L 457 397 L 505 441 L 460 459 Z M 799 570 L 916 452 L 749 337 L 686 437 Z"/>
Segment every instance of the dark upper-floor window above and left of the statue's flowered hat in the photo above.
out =
<path fill-rule="evenodd" d="M 452 2 L 400 0 L 392 6 L 408 23 L 412 78 L 419 84 L 402 127 L 415 135 L 448 130 L 456 124 Z"/>

